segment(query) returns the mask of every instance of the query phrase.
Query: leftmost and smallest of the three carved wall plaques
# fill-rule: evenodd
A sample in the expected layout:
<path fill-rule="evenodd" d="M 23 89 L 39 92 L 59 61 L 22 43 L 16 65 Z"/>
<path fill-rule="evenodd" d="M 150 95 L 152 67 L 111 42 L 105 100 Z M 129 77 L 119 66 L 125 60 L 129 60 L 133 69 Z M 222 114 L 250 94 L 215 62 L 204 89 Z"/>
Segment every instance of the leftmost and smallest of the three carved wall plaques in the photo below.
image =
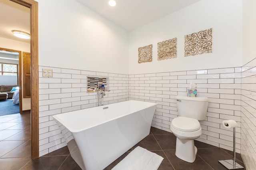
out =
<path fill-rule="evenodd" d="M 139 60 L 138 63 L 145 63 L 152 61 L 152 47 L 153 45 L 147 45 L 145 47 L 138 48 Z"/>

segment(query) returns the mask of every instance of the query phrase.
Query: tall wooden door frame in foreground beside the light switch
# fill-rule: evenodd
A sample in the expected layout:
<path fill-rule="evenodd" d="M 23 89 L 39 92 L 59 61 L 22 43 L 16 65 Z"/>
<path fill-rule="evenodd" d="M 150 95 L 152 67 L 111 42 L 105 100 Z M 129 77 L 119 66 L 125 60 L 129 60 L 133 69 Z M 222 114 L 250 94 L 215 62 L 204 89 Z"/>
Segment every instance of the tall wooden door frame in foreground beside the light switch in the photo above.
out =
<path fill-rule="evenodd" d="M 34 0 L 10 0 L 30 8 L 31 54 L 31 158 L 39 158 L 39 66 L 38 66 L 38 2 Z"/>

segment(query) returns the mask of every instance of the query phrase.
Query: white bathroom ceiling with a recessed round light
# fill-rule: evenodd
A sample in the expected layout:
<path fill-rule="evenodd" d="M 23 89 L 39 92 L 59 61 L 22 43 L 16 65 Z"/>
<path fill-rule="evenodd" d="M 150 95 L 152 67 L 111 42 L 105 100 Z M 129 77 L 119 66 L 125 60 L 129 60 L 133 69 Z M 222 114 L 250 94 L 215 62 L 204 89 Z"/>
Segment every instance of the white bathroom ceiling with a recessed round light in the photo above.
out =
<path fill-rule="evenodd" d="M 200 0 L 77 0 L 84 6 L 116 23 L 126 31 L 132 31 Z"/>

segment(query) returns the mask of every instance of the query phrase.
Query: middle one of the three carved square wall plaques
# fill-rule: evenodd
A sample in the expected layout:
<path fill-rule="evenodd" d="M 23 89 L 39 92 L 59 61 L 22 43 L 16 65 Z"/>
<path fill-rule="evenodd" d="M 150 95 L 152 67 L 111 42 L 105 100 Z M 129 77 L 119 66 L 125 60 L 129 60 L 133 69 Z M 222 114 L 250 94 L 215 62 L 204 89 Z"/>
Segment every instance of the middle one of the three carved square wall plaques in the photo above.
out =
<path fill-rule="evenodd" d="M 177 38 L 169 39 L 157 43 L 158 60 L 171 59 L 177 57 Z"/>

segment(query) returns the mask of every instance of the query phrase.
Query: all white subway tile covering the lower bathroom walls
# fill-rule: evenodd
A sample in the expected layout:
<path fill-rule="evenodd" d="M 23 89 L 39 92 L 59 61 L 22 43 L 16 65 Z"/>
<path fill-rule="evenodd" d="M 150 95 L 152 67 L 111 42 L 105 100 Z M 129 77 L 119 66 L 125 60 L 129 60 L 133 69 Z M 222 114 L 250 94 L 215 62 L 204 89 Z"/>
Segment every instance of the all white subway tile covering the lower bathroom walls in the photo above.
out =
<path fill-rule="evenodd" d="M 52 78 L 43 78 L 42 72 L 39 72 L 40 156 L 66 145 L 52 115 L 96 107 L 96 94 L 86 93 L 86 77 L 104 76 L 109 77 L 110 83 L 110 92 L 106 92 L 104 104 L 125 100 L 156 102 L 158 105 L 152 126 L 165 131 L 170 131 L 172 119 L 178 116 L 175 96 L 186 96 L 186 89 L 193 81 L 198 97 L 209 98 L 207 117 L 200 121 L 202 135 L 197 140 L 233 150 L 232 129 L 224 128 L 222 121 L 234 119 L 238 122 L 236 152 L 242 153 L 246 164 L 249 162 L 256 167 L 255 63 L 252 61 L 242 68 L 132 75 L 40 66 L 39 70 L 53 70 Z"/>

